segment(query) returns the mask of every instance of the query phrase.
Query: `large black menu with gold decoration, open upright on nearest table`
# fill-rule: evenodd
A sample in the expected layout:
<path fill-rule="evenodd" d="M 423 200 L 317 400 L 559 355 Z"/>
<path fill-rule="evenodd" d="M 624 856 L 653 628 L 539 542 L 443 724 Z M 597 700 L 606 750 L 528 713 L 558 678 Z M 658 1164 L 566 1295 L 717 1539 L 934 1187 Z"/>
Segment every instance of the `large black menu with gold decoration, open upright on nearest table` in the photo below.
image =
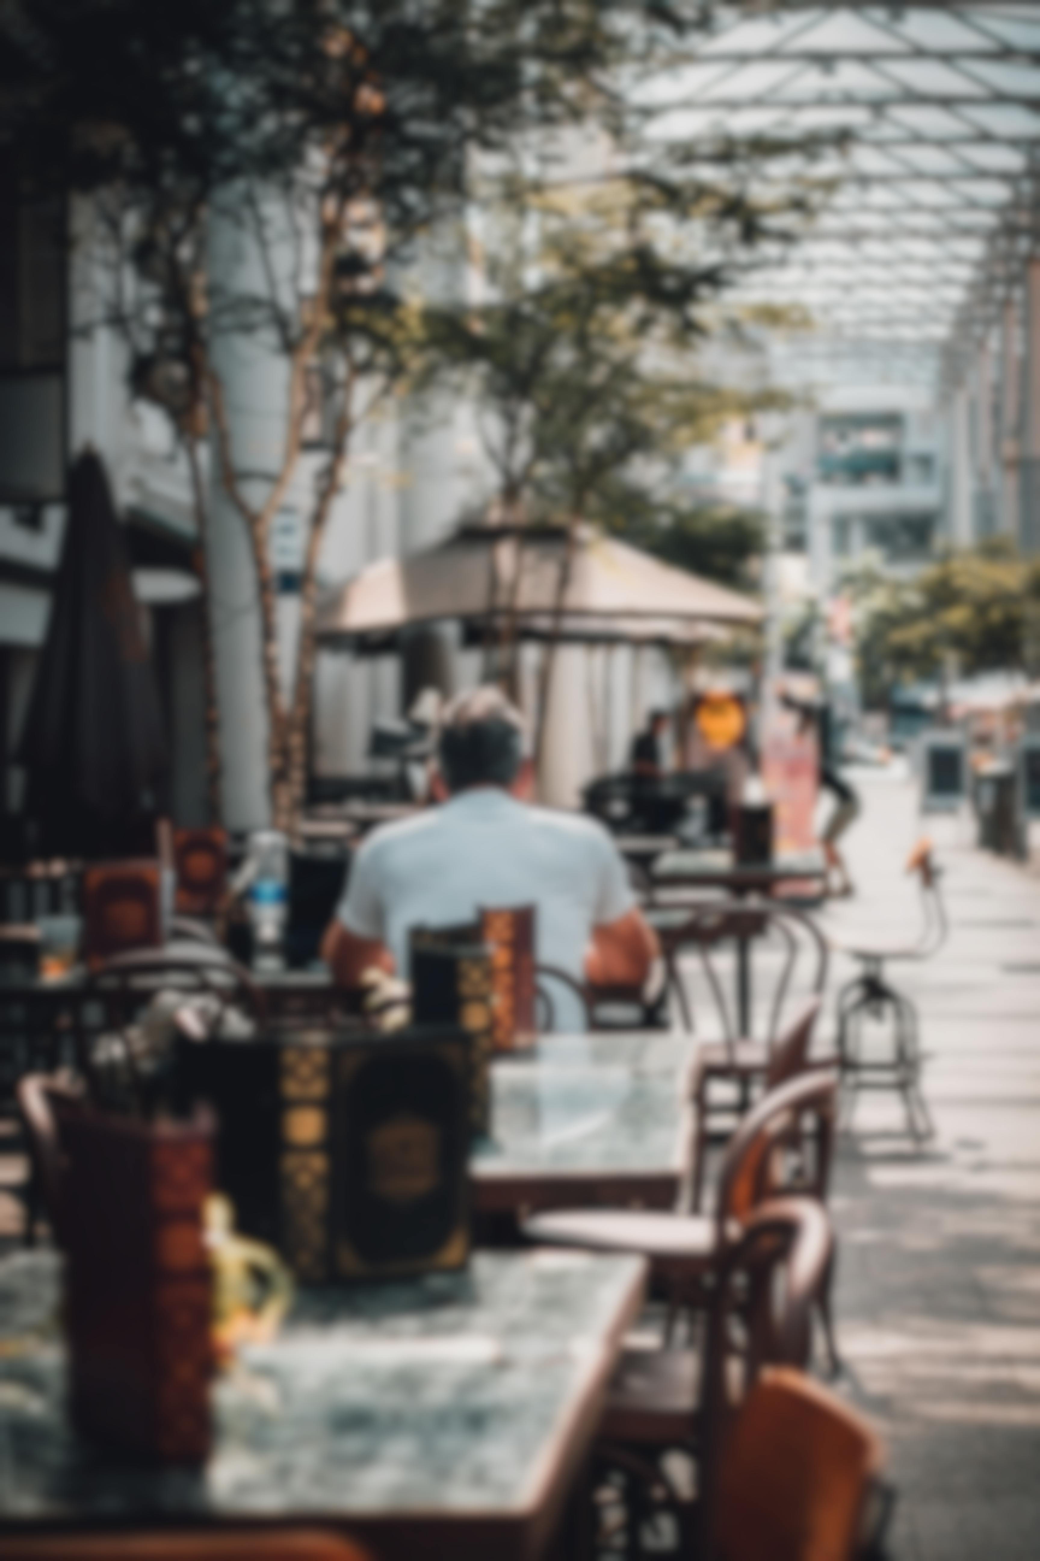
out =
<path fill-rule="evenodd" d="M 178 1041 L 176 1096 L 218 1119 L 243 1235 L 307 1285 L 463 1268 L 469 1046 L 458 1029 Z"/>

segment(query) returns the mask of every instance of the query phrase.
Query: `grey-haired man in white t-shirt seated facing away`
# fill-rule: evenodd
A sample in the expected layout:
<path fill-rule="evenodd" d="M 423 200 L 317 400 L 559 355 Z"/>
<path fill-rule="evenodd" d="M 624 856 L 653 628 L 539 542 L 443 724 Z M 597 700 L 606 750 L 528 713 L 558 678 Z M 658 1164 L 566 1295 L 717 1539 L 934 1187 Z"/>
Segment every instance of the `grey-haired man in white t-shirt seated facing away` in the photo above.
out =
<path fill-rule="evenodd" d="M 479 910 L 536 907 L 536 960 L 575 980 L 638 987 L 658 954 L 625 863 L 591 818 L 532 807 L 524 724 L 497 688 L 447 707 L 437 791 L 447 799 L 385 824 L 360 846 L 321 954 L 356 987 L 373 965 L 407 976 L 409 930 L 476 919 Z M 555 1026 L 585 1027 L 577 996 L 552 983 Z"/>

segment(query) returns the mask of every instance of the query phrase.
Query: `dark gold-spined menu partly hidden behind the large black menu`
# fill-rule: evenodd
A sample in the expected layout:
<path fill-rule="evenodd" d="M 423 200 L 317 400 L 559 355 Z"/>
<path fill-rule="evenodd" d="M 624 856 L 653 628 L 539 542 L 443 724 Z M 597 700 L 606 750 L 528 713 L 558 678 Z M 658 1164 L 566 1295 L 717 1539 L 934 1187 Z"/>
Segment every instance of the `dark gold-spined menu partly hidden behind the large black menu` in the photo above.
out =
<path fill-rule="evenodd" d="M 480 926 L 413 927 L 412 1018 L 416 1026 L 452 1024 L 469 1037 L 469 1124 L 474 1138 L 491 1132 L 494 974 Z"/>

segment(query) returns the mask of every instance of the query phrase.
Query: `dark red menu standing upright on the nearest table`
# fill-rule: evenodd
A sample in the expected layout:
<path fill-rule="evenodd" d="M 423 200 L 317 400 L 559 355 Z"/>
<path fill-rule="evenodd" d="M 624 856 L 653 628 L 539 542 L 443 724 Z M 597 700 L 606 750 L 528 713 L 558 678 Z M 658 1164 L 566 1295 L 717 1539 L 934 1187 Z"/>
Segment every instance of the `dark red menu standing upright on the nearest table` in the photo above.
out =
<path fill-rule="evenodd" d="M 201 1463 L 212 1442 L 212 1122 L 73 1104 L 58 1115 L 73 1425 L 122 1453 Z"/>

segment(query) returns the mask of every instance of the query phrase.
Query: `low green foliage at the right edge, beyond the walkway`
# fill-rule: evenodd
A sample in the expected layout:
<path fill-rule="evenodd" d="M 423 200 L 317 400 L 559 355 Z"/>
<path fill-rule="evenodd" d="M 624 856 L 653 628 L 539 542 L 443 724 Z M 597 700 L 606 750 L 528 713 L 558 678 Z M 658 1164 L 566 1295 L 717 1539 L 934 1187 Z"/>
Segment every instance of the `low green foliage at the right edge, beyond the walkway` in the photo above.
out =
<path fill-rule="evenodd" d="M 964 676 L 1037 670 L 1040 568 L 1017 557 L 1007 539 L 951 551 L 912 582 L 886 579 L 867 562 L 845 588 L 867 704 L 883 704 L 895 682 L 950 665 Z"/>

